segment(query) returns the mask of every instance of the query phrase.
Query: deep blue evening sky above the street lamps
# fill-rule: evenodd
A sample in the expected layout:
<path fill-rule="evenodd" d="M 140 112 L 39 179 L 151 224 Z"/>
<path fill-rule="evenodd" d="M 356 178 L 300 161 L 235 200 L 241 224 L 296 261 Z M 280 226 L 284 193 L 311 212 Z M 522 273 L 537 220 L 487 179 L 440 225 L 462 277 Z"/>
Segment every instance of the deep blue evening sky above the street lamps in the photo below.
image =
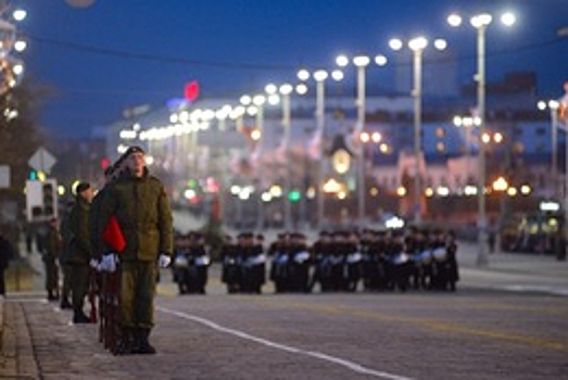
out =
<path fill-rule="evenodd" d="M 451 11 L 515 11 L 510 29 L 488 29 L 488 77 L 535 71 L 542 97 L 568 80 L 568 0 L 64 0 L 21 1 L 29 37 L 26 75 L 54 89 L 41 122 L 50 134 L 89 136 L 125 107 L 160 105 L 197 79 L 202 96 L 261 90 L 302 66 L 331 67 L 338 53 L 384 53 L 393 36 L 443 37 L 459 80 L 475 73 L 475 29 L 445 24 Z M 425 58 L 428 60 L 428 56 Z M 394 62 L 394 60 L 391 60 Z M 370 69 L 370 68 L 369 68 Z M 368 85 L 389 85 L 389 69 Z M 370 83 L 369 83 L 370 81 Z M 376 83 L 374 83 L 376 81 Z M 386 86 L 383 86 L 386 87 Z M 236 99 L 237 101 L 237 99 Z"/>

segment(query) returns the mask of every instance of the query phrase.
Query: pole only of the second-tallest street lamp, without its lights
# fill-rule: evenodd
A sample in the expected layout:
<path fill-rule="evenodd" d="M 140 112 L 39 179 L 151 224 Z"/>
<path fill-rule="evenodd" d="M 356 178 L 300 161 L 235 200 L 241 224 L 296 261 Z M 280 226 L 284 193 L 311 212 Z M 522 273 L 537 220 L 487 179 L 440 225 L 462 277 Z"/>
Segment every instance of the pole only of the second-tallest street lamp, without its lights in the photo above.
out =
<path fill-rule="evenodd" d="M 422 49 L 414 50 L 414 221 L 420 224 L 420 131 L 422 124 Z"/>

